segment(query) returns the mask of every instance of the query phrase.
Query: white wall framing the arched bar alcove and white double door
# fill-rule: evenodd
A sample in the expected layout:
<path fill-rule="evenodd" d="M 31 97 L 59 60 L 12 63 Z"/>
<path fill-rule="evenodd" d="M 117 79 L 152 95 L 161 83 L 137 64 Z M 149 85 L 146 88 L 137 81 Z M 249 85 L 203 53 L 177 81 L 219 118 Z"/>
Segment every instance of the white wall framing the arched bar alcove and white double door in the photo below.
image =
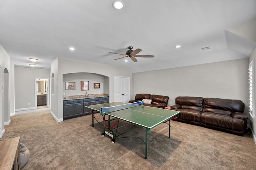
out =
<path fill-rule="evenodd" d="M 63 74 L 79 72 L 95 73 L 109 77 L 110 102 L 114 102 L 114 76 L 126 76 L 132 78 L 132 73 L 124 67 L 58 57 L 52 62 L 50 70 L 50 75 L 52 75 L 52 73 L 55 75 L 55 90 L 54 96 L 52 96 L 52 98 L 54 97 L 54 100 L 51 100 L 51 112 L 56 121 L 63 121 Z"/>

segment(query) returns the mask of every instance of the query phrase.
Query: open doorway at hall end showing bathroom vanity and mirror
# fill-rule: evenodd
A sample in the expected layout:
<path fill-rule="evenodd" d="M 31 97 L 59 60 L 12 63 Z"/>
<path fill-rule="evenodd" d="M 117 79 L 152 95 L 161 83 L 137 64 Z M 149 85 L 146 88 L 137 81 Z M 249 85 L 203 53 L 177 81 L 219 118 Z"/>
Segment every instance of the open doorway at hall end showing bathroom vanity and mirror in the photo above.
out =
<path fill-rule="evenodd" d="M 49 107 L 49 78 L 36 78 L 35 94 L 36 94 L 36 108 Z"/>

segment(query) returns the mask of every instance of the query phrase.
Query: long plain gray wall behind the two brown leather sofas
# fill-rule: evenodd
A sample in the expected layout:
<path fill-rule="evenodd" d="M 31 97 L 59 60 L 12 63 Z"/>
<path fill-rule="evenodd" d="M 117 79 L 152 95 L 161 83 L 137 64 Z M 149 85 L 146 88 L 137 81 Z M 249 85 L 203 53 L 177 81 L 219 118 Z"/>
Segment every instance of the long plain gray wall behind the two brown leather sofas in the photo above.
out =
<path fill-rule="evenodd" d="M 199 64 L 132 74 L 133 91 L 169 96 L 168 106 L 177 96 L 200 96 L 242 100 L 248 115 L 247 59 Z"/>

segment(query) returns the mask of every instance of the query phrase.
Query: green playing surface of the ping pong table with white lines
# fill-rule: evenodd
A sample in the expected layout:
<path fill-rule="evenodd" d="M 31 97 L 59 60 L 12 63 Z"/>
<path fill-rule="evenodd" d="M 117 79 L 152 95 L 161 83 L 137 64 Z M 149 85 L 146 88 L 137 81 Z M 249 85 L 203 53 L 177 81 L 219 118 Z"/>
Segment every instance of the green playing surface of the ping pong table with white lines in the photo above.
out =
<path fill-rule="evenodd" d="M 101 111 L 102 107 L 110 107 L 110 106 L 119 106 L 127 103 L 122 102 L 112 102 L 106 104 L 97 104 L 92 106 L 86 106 L 90 109 Z M 147 129 L 153 129 L 157 125 L 169 120 L 170 118 L 178 115 L 179 111 L 162 109 L 157 107 L 150 106 L 136 106 L 130 107 L 110 113 L 106 113 L 106 115 L 116 117 L 118 119 L 134 123 L 138 126 L 145 127 Z"/>

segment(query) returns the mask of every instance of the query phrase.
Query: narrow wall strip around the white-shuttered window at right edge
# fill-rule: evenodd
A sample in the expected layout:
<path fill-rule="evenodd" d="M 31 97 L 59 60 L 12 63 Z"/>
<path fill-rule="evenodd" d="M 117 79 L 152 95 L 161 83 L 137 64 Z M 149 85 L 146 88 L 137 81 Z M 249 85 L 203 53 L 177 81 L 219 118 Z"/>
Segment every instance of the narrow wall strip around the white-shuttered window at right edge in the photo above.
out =
<path fill-rule="evenodd" d="M 254 83 L 256 83 L 256 68 L 255 68 L 255 61 L 256 61 L 256 48 L 252 52 L 250 56 L 249 63 L 254 59 Z M 254 87 L 254 92 L 256 92 L 256 87 Z M 256 96 L 255 96 L 256 97 Z M 256 106 L 256 101 L 254 100 L 254 106 Z M 250 116 L 249 116 L 250 117 Z M 254 137 L 254 142 L 256 143 L 256 119 L 250 117 L 250 128 L 252 129 L 252 134 Z"/>

